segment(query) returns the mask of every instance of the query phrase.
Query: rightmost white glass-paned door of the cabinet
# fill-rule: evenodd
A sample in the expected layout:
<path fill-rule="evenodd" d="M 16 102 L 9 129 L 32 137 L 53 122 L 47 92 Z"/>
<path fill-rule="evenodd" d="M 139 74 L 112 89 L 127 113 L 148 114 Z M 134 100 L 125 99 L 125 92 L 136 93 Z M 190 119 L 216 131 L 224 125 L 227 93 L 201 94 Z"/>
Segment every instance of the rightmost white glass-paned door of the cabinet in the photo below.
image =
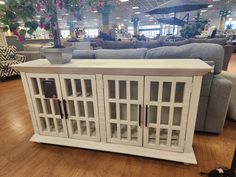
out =
<path fill-rule="evenodd" d="M 183 152 L 192 77 L 145 77 L 144 147 Z"/>

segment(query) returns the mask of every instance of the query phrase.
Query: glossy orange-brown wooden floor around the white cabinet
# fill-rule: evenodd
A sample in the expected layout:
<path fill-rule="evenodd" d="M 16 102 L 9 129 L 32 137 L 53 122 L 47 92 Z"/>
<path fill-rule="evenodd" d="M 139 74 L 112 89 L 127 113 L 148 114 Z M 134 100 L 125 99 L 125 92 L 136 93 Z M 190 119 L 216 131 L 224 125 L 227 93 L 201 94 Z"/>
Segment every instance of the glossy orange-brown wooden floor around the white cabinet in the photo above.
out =
<path fill-rule="evenodd" d="M 224 133 L 196 134 L 198 165 L 29 142 L 33 135 L 21 80 L 0 82 L 0 177 L 197 177 L 230 166 L 236 122 Z"/>

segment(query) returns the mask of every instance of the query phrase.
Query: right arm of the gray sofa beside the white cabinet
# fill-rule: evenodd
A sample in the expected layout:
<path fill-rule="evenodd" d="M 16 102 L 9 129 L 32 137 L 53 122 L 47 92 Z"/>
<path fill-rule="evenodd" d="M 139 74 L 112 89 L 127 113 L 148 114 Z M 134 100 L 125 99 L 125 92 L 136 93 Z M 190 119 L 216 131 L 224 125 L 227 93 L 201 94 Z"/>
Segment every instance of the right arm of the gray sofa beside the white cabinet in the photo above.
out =
<path fill-rule="evenodd" d="M 205 131 L 212 133 L 222 132 L 228 110 L 231 89 L 231 81 L 225 79 L 220 74 L 214 76 L 208 100 Z"/>

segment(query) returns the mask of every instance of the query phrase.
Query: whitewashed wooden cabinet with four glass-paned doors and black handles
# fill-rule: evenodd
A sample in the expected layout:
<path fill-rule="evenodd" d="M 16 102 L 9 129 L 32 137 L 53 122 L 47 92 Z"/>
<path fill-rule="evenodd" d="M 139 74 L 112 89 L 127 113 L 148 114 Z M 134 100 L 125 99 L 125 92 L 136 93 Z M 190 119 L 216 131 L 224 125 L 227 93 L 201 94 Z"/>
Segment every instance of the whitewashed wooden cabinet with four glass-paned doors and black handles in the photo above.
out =
<path fill-rule="evenodd" d="M 21 71 L 31 141 L 196 164 L 201 60 L 36 60 Z"/>

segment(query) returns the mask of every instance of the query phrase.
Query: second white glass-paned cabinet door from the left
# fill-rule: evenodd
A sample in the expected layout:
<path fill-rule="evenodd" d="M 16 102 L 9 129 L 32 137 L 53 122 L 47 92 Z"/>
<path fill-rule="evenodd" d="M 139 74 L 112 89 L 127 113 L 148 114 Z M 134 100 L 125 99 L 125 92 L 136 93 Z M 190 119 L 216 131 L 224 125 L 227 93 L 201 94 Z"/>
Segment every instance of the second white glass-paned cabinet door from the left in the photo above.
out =
<path fill-rule="evenodd" d="M 100 141 L 95 75 L 60 74 L 69 137 Z"/>

